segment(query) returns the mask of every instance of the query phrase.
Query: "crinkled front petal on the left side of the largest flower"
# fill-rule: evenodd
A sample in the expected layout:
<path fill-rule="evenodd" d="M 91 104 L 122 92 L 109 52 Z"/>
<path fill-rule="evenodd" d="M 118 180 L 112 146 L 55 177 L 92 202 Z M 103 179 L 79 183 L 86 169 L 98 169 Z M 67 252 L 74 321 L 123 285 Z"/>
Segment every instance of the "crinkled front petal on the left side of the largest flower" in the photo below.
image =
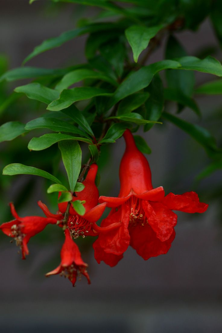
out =
<path fill-rule="evenodd" d="M 101 227 L 106 227 L 116 222 L 121 222 L 121 225 L 106 233 L 100 233 L 98 242 L 105 252 L 120 255 L 126 251 L 130 240 L 128 232 L 129 212 L 125 205 L 104 219 Z"/>

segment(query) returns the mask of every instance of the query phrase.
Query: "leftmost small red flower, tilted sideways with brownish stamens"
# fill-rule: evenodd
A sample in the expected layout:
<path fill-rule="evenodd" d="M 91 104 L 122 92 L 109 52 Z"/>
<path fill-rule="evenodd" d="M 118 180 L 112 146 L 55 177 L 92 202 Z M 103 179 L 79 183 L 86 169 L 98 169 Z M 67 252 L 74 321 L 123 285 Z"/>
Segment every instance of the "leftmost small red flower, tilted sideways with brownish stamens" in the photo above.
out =
<path fill-rule="evenodd" d="M 29 239 L 41 232 L 47 224 L 55 224 L 57 219 L 54 217 L 40 217 L 40 216 L 25 216 L 19 217 L 13 203 L 10 203 L 12 215 L 15 220 L 3 223 L 0 229 L 9 237 L 13 237 L 16 245 L 20 246 L 22 252 L 22 259 L 29 254 L 27 244 Z"/>

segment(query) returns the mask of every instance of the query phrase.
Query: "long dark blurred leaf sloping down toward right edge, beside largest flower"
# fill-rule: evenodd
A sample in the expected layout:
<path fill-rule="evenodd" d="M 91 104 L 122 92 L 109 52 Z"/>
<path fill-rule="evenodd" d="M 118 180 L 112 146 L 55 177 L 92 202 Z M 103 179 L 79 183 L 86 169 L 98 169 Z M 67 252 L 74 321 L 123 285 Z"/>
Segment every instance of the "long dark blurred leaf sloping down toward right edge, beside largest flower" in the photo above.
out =
<path fill-rule="evenodd" d="M 166 112 L 163 113 L 163 117 L 178 126 L 184 132 L 188 133 L 194 140 L 204 147 L 209 155 L 222 152 L 222 150 L 217 147 L 215 138 L 205 128 L 190 124 Z"/>

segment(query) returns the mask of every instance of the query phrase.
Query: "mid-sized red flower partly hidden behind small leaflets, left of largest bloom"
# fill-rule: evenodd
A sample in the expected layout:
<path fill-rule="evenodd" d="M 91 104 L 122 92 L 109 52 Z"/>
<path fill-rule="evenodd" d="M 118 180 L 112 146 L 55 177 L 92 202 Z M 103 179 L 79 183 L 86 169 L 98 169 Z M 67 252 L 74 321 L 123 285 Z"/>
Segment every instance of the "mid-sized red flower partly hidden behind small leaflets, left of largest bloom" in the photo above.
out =
<path fill-rule="evenodd" d="M 83 216 L 79 215 L 72 206 L 70 207 L 67 226 L 73 238 L 78 238 L 79 236 L 96 236 L 98 235 L 98 232 L 101 232 L 102 230 L 97 226 L 96 222 L 102 216 L 107 203 L 104 202 L 97 205 L 99 200 L 99 191 L 95 185 L 97 170 L 98 166 L 96 164 L 90 166 L 86 179 L 83 181 L 85 188 L 81 192 L 76 192 L 76 196 L 73 196 L 73 201 L 86 201 L 86 203 L 84 203 L 86 213 Z M 61 194 L 59 194 L 59 196 L 60 195 Z M 66 211 L 68 203 L 59 203 L 59 214 L 52 214 L 47 206 L 41 201 L 39 201 L 38 204 L 47 217 L 54 217 L 57 220 L 61 220 L 64 218 L 63 214 Z M 114 225 L 114 227 L 116 227 L 116 225 Z M 105 230 L 106 229 L 104 229 L 104 231 Z"/>

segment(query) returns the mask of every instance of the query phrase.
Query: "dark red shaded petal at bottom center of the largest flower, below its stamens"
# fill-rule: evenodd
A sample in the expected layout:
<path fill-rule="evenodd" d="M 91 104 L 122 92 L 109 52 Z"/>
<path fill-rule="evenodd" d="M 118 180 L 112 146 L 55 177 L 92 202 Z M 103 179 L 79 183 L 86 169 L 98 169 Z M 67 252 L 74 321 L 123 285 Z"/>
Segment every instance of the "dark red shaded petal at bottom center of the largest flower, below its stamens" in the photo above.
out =
<path fill-rule="evenodd" d="M 173 231 L 169 239 L 161 242 L 148 224 L 129 226 L 129 233 L 130 245 L 144 260 L 167 253 L 175 237 L 175 231 Z"/>

